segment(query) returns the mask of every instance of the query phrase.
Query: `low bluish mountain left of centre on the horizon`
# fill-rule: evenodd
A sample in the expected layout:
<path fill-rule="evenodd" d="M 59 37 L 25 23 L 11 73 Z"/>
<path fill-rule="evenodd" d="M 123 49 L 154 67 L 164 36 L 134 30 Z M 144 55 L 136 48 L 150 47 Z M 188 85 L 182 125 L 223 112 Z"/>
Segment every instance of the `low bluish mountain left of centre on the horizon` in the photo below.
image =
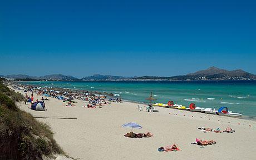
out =
<path fill-rule="evenodd" d="M 101 75 L 94 74 L 93 76 L 83 77 L 85 81 L 104 81 L 104 80 L 117 80 L 117 79 L 131 79 L 134 77 L 123 77 L 123 76 L 111 76 L 111 75 Z"/>

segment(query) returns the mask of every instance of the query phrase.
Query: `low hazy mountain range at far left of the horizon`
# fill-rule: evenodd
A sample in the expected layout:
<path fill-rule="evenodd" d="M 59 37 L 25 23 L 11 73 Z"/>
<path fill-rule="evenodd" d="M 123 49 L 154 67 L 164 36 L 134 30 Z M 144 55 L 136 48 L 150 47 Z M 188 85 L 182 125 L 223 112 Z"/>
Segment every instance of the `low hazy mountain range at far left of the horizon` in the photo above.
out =
<path fill-rule="evenodd" d="M 60 79 L 60 80 L 78 80 L 78 78 L 73 76 L 65 76 L 63 74 L 51 74 L 46 76 L 28 76 L 26 74 L 11 74 L 4 76 L 4 78 L 13 78 L 13 79 Z"/>

